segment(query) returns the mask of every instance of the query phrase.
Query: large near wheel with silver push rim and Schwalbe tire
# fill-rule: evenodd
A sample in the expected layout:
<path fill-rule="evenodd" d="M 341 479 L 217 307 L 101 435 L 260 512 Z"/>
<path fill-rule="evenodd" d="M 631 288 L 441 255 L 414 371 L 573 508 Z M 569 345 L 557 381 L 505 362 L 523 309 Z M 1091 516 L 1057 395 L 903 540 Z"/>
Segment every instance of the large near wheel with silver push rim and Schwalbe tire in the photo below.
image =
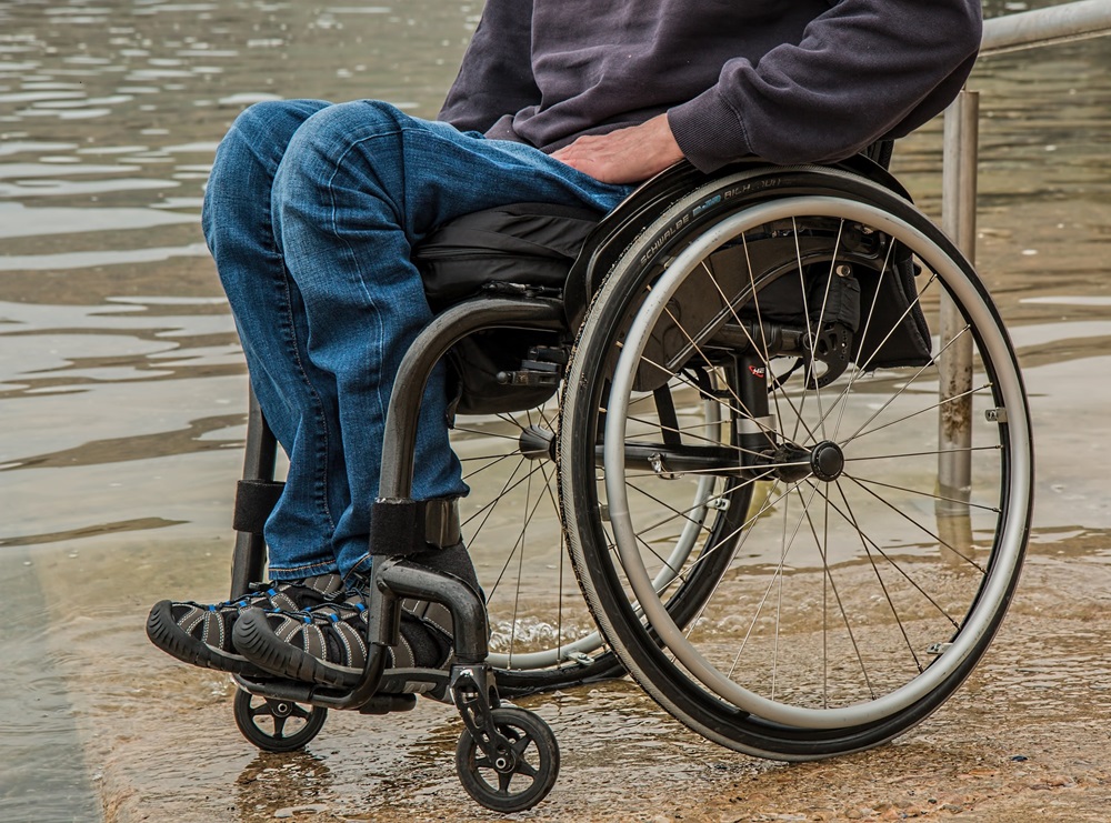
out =
<path fill-rule="evenodd" d="M 919 311 L 942 302 L 959 318 L 944 339 Z M 760 414 L 685 377 L 739 357 L 765 381 Z M 970 388 L 939 400 L 962 371 Z M 653 591 L 638 538 L 652 514 L 625 485 L 642 471 L 630 409 L 660 380 L 739 412 L 748 439 L 701 471 L 758 492 L 687 620 Z M 738 172 L 677 200 L 594 295 L 567 387 L 572 563 L 621 662 L 689 727 L 777 760 L 860 751 L 925 719 L 987 651 L 1029 532 L 1029 411 L 987 289 L 907 200 L 817 167 Z M 952 444 L 954 423 L 967 443 Z"/>

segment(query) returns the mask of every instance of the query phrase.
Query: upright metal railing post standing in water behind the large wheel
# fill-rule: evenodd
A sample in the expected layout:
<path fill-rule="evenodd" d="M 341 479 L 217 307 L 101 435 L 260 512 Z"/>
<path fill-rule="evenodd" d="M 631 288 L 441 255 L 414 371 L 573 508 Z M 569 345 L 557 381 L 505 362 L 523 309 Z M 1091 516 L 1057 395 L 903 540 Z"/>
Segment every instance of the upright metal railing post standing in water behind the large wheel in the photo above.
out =
<path fill-rule="evenodd" d="M 941 197 L 942 230 L 975 262 L 977 148 L 980 98 L 962 91 L 945 111 Z M 967 513 L 972 489 L 972 338 L 949 295 L 941 295 L 940 430 L 941 509 Z M 952 502 L 947 502 L 952 501 Z"/>

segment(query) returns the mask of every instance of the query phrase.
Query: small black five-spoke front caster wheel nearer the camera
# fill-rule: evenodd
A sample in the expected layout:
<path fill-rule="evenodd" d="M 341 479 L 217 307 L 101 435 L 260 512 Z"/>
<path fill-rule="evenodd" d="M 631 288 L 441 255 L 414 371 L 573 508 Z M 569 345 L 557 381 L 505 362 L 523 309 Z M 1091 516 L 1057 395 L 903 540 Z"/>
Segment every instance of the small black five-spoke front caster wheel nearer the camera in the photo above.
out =
<path fill-rule="evenodd" d="M 483 752 L 470 730 L 456 747 L 459 782 L 476 801 L 496 812 L 532 809 L 548 796 L 559 775 L 556 735 L 532 712 L 512 706 L 490 712 L 500 735 L 494 752 Z"/>

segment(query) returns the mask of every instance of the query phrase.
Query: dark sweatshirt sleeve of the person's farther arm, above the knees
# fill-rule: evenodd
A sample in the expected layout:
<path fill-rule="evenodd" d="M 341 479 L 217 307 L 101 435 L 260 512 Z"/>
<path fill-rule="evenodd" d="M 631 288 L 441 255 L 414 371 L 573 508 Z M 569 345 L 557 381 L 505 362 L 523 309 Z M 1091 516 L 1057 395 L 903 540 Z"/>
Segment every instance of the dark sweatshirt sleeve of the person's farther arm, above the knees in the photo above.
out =
<path fill-rule="evenodd" d="M 488 131 L 540 102 L 532 77 L 532 0 L 488 0 L 438 120 Z"/>

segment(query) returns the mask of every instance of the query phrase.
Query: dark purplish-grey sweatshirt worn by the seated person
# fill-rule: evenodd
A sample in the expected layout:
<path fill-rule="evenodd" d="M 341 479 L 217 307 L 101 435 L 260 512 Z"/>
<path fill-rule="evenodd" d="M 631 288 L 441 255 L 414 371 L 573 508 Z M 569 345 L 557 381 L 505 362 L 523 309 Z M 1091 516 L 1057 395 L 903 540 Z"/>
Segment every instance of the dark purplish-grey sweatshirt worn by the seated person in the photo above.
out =
<path fill-rule="evenodd" d="M 960 91 L 979 0 L 487 0 L 440 119 L 553 151 L 667 112 L 703 171 L 837 160 Z"/>

